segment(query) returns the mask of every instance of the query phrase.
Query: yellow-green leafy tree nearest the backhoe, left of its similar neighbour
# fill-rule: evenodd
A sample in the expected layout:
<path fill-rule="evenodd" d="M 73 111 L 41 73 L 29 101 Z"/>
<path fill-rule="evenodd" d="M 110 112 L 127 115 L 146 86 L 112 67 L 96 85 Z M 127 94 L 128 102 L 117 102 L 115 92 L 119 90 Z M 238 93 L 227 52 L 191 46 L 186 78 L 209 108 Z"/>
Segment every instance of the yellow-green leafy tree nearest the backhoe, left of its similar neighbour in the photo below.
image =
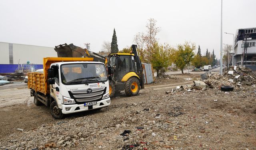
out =
<path fill-rule="evenodd" d="M 162 68 L 167 68 L 171 65 L 170 54 L 172 48 L 169 45 L 159 45 L 157 42 L 152 47 L 153 54 L 151 63 L 156 70 L 156 76 L 159 76 L 159 72 Z"/>

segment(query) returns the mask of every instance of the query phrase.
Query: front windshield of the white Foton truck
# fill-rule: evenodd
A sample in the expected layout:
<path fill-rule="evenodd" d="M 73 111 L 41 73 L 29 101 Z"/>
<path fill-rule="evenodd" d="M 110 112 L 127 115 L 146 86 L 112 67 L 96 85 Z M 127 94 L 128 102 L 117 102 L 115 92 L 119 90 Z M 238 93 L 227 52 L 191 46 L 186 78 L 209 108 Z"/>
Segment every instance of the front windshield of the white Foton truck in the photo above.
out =
<path fill-rule="evenodd" d="M 84 84 L 108 80 L 104 64 L 63 64 L 60 68 L 61 80 L 64 84 Z"/>

